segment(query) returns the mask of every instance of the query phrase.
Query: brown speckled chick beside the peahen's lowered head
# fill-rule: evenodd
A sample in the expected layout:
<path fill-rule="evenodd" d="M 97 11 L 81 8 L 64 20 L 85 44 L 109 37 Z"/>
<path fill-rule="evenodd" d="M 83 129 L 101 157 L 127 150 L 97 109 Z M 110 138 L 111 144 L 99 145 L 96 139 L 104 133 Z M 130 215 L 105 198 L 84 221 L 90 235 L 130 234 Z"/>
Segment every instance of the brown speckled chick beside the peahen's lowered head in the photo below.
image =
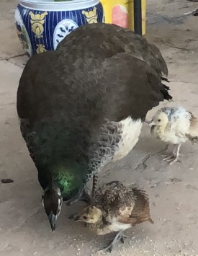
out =
<path fill-rule="evenodd" d="M 83 221 L 98 235 L 117 232 L 114 240 L 102 251 L 112 251 L 122 234 L 136 224 L 150 221 L 148 195 L 144 190 L 125 186 L 122 182 L 112 181 L 99 187 L 92 202 L 80 213 L 73 215 L 75 221 Z"/>

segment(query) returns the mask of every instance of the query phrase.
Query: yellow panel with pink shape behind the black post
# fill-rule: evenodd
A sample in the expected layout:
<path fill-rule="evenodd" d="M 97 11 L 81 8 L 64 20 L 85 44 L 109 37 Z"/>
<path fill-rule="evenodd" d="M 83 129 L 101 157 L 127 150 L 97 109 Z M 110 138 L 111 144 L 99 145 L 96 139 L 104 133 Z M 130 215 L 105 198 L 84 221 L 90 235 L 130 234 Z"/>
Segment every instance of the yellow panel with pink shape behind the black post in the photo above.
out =
<path fill-rule="evenodd" d="M 143 35 L 145 35 L 146 0 L 141 1 Z M 134 30 L 133 0 L 101 0 L 101 2 L 104 8 L 105 23 L 114 23 Z"/>

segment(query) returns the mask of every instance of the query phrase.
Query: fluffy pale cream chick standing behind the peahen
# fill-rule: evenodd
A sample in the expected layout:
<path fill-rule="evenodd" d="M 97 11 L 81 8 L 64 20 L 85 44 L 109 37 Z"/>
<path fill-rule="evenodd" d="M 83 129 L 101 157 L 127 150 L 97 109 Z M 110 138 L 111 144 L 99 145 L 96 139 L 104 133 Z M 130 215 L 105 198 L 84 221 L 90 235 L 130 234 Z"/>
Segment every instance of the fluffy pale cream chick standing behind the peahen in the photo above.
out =
<path fill-rule="evenodd" d="M 153 136 L 167 144 L 174 145 L 171 156 L 163 159 L 170 161 L 170 164 L 179 160 L 181 144 L 187 140 L 194 143 L 198 139 L 197 118 L 184 107 L 162 107 L 153 116 L 150 126 Z"/>

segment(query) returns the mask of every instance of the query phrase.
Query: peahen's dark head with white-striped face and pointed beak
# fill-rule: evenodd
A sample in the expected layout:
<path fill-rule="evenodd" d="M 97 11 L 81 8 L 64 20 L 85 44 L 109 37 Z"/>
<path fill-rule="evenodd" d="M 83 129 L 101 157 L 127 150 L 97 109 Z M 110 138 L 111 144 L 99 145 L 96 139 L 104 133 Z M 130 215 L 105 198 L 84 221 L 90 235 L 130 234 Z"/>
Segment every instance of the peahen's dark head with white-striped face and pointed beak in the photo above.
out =
<path fill-rule="evenodd" d="M 59 187 L 47 187 L 42 195 L 42 205 L 45 208 L 45 213 L 50 221 L 52 231 L 55 231 L 55 223 L 60 214 L 60 209 L 63 203 Z"/>

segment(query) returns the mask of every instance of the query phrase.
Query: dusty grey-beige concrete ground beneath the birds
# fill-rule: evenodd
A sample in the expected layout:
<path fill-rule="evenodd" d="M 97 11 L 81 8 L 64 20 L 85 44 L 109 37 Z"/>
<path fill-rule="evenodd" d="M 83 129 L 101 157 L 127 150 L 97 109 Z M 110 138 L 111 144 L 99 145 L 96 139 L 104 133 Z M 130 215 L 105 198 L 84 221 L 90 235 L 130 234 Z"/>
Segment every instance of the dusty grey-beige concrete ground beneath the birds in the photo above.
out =
<path fill-rule="evenodd" d="M 17 86 L 27 61 L 14 27 L 16 5 L 15 0 L 1 0 L 0 178 L 10 177 L 14 183 L 0 185 L 0 255 L 96 255 L 112 235 L 96 237 L 69 221 L 79 204 L 63 206 L 55 233 L 42 209 L 37 171 L 16 112 Z M 198 116 L 198 17 L 183 15 L 194 9 L 198 4 L 186 0 L 148 1 L 146 37 L 168 63 L 171 104 L 183 105 Z M 184 164 L 172 167 L 161 161 L 165 148 L 145 125 L 135 149 L 101 175 L 101 181 L 117 179 L 143 187 L 155 221 L 128 230 L 131 239 L 119 244 L 113 256 L 198 255 L 198 148 L 186 143 L 181 147 Z"/>

